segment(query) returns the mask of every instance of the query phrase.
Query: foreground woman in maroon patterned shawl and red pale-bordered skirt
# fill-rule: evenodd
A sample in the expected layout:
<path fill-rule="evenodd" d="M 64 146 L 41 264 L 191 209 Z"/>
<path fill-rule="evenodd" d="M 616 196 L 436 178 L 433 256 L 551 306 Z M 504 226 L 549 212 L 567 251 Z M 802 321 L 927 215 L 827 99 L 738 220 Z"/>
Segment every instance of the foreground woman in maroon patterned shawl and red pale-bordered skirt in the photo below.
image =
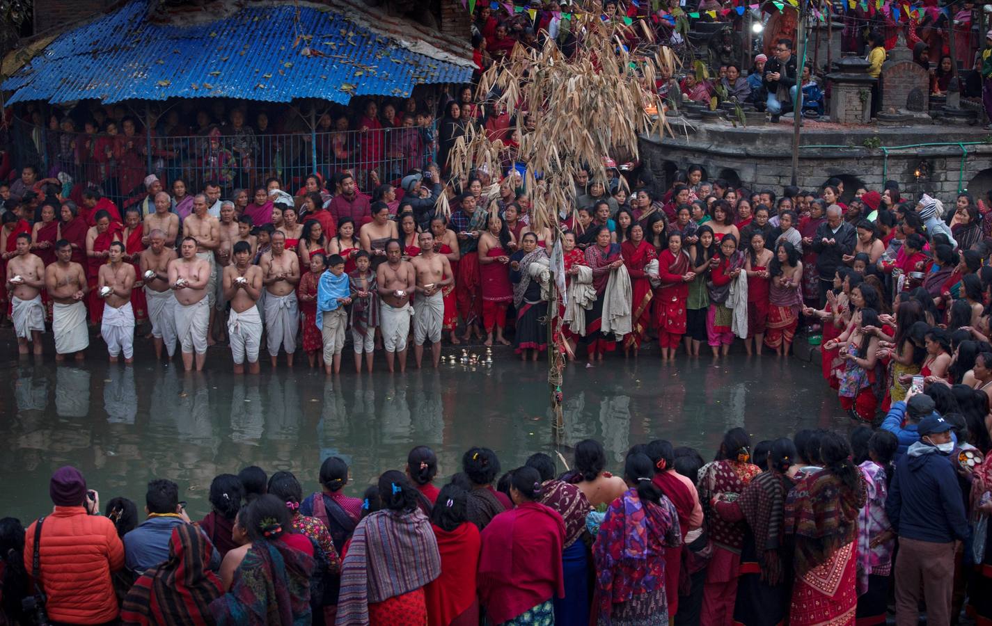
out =
<path fill-rule="evenodd" d="M 850 455 L 843 437 L 823 435 L 819 445 L 823 470 L 806 474 L 786 500 L 786 536 L 796 546 L 792 626 L 854 623 L 857 519 L 867 491 Z"/>

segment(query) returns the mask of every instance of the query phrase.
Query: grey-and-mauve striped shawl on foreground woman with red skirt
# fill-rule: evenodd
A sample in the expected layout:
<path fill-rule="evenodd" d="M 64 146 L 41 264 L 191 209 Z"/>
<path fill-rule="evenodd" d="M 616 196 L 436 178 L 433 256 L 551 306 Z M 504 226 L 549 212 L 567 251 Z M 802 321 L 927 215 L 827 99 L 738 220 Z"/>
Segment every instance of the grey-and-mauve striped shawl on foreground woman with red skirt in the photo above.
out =
<path fill-rule="evenodd" d="M 368 605 L 423 587 L 440 575 L 431 522 L 414 509 L 382 510 L 355 527 L 341 569 L 338 624 L 368 624 Z"/>

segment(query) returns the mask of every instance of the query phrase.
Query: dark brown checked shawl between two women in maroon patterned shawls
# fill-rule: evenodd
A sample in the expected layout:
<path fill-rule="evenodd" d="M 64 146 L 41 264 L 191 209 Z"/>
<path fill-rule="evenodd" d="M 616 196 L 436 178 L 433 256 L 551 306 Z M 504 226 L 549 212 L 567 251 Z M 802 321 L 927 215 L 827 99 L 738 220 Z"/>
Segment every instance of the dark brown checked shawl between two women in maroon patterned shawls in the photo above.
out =
<path fill-rule="evenodd" d="M 768 559 L 778 558 L 778 550 L 782 546 L 786 495 L 793 484 L 784 473 L 762 471 L 737 500 L 744 519 L 751 527 L 758 563 L 763 569 L 768 567 Z"/>

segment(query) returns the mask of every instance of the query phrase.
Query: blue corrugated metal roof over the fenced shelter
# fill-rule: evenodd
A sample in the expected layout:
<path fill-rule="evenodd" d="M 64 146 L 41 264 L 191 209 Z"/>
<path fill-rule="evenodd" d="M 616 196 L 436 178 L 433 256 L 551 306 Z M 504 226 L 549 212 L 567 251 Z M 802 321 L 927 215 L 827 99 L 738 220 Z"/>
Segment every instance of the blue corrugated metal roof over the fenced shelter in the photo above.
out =
<path fill-rule="evenodd" d="M 346 104 L 352 96 L 409 96 L 419 83 L 468 82 L 472 73 L 467 61 L 407 50 L 328 7 L 249 6 L 192 26 L 154 24 L 147 14 L 148 0 L 134 0 L 62 34 L 0 85 L 15 91 L 8 104 L 174 97 Z M 305 39 L 294 47 L 298 33 Z M 303 55 L 305 47 L 319 55 Z"/>

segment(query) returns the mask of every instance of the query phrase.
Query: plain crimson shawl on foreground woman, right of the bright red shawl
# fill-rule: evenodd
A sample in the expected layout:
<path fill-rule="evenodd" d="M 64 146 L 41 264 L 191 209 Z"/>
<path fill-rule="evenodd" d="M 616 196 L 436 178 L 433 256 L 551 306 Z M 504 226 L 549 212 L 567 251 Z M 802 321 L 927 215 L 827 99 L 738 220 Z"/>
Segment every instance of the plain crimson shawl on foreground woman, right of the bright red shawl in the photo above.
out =
<path fill-rule="evenodd" d="M 564 522 L 544 504 L 525 502 L 500 513 L 482 531 L 479 600 L 490 621 L 502 624 L 564 597 L 561 546 Z"/>

